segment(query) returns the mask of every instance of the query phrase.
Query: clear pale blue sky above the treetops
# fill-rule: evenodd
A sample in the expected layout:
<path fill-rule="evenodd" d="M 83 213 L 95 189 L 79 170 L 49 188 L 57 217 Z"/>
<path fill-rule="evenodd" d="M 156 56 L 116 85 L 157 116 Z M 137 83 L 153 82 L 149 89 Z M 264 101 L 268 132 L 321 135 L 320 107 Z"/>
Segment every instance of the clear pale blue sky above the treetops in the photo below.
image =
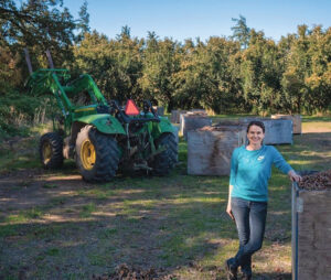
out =
<path fill-rule="evenodd" d="M 84 0 L 64 0 L 77 18 Z M 331 0 L 87 0 L 92 30 L 115 39 L 128 25 L 131 36 L 154 31 L 160 39 L 229 36 L 232 18 L 278 41 L 299 24 L 331 26 Z"/>

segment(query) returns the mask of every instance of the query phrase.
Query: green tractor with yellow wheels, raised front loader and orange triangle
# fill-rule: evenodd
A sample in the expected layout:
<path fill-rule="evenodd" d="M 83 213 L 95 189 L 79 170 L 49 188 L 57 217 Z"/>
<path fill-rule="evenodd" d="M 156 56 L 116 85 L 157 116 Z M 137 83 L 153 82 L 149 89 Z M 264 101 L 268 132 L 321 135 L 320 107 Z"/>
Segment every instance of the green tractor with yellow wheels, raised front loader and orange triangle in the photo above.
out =
<path fill-rule="evenodd" d="M 85 181 L 107 182 L 118 170 L 167 175 L 177 163 L 174 127 L 149 101 L 141 111 L 132 100 L 126 108 L 108 103 L 89 75 L 71 79 L 66 69 L 31 71 L 26 86 L 34 96 L 51 94 L 61 111 L 53 116 L 53 132 L 40 139 L 45 169 L 75 159 Z"/>

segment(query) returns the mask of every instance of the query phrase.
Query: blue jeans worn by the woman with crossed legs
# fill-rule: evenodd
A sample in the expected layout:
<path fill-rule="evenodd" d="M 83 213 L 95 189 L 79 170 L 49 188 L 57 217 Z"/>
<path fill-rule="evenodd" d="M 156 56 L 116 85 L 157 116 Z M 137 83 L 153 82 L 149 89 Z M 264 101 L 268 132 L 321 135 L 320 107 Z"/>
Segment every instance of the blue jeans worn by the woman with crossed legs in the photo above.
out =
<path fill-rule="evenodd" d="M 231 198 L 232 213 L 239 236 L 239 249 L 234 257 L 234 265 L 242 267 L 242 271 L 246 274 L 252 274 L 252 255 L 263 245 L 267 206 L 267 202 Z"/>

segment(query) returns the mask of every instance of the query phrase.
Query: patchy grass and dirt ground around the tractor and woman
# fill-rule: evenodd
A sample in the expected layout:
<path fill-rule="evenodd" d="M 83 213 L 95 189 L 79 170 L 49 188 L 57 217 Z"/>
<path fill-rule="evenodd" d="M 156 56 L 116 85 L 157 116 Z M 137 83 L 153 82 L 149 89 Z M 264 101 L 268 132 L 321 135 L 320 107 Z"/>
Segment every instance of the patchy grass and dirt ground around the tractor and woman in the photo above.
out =
<path fill-rule="evenodd" d="M 302 120 L 305 133 L 277 148 L 297 170 L 325 170 L 330 119 Z M 107 184 L 83 182 L 73 161 L 42 170 L 35 146 L 32 137 L 0 147 L 0 279 L 92 279 L 120 263 L 172 279 L 226 279 L 223 263 L 238 246 L 225 215 L 228 177 L 186 175 L 183 140 L 169 176 Z M 290 182 L 277 170 L 269 197 L 254 279 L 291 279 Z"/>

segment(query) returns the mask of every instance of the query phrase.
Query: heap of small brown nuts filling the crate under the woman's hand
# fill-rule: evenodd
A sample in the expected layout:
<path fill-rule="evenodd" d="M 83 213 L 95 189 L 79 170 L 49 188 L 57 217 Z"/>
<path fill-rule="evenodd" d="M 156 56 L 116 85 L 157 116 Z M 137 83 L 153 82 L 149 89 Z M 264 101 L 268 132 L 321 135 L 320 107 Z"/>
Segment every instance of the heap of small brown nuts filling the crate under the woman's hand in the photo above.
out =
<path fill-rule="evenodd" d="M 331 190 L 331 170 L 302 176 L 298 186 L 306 191 Z"/>

